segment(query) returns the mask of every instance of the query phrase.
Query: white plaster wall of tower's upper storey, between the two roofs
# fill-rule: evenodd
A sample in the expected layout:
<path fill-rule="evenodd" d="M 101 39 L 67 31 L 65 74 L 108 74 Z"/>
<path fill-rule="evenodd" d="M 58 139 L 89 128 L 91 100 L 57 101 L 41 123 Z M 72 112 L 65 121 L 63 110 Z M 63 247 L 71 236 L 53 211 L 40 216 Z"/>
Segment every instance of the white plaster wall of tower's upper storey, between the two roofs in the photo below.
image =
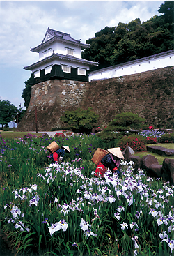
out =
<path fill-rule="evenodd" d="M 47 50 L 49 48 L 52 49 L 50 51 L 49 55 L 52 55 L 53 52 L 58 53 L 58 54 L 66 55 L 67 50 L 66 50 L 65 47 L 68 47 L 70 49 L 74 49 L 75 50 L 74 51 L 74 57 L 81 59 L 81 47 L 70 45 L 69 43 L 65 44 L 65 43 L 61 43 L 61 42 L 54 42 L 54 43 L 52 43 L 52 45 L 47 45 L 47 47 L 42 48 L 42 50 L 40 50 L 40 52 L 39 52 L 39 61 L 41 61 L 42 59 L 45 59 L 44 52 L 45 52 L 45 50 Z"/>

